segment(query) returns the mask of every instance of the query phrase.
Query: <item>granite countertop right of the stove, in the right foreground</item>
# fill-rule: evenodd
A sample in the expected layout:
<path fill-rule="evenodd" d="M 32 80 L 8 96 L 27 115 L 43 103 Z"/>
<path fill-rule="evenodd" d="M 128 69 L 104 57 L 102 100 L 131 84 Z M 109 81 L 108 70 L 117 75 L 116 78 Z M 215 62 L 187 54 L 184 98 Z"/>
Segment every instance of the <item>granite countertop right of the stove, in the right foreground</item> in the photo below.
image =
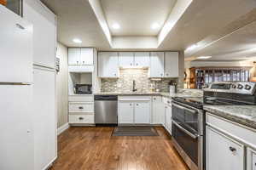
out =
<path fill-rule="evenodd" d="M 204 105 L 204 110 L 256 129 L 256 105 Z"/>

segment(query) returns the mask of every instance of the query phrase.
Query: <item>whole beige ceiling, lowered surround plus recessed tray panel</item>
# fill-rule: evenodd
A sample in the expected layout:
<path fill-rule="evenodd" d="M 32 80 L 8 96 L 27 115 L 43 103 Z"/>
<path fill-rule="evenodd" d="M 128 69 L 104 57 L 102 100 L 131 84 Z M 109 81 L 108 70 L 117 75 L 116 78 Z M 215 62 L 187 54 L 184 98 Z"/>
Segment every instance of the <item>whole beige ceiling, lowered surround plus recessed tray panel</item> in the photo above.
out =
<path fill-rule="evenodd" d="M 58 41 L 67 47 L 78 46 L 72 40 L 79 37 L 83 41 L 80 46 L 116 50 L 109 44 L 88 0 L 42 0 L 42 2 L 57 14 Z M 122 42 L 120 37 L 137 37 L 133 38 L 134 40 L 138 40 L 138 37 L 157 37 L 161 28 L 152 30 L 151 24 L 158 22 L 162 27 L 178 1 L 99 0 L 99 2 L 111 36 L 119 37 L 114 42 Z M 212 60 L 246 59 L 245 57 L 255 56 L 253 49 L 256 44 L 254 41 L 256 29 L 253 22 L 255 20 L 255 0 L 193 0 L 160 46 L 152 50 L 185 50 L 193 44 L 200 44 L 200 48 L 189 52 L 186 50 L 185 57 L 212 55 Z M 119 30 L 113 30 L 114 23 L 120 25 Z M 129 42 L 128 40 L 126 38 L 126 43 Z M 133 49 L 143 50 L 143 48 Z"/>

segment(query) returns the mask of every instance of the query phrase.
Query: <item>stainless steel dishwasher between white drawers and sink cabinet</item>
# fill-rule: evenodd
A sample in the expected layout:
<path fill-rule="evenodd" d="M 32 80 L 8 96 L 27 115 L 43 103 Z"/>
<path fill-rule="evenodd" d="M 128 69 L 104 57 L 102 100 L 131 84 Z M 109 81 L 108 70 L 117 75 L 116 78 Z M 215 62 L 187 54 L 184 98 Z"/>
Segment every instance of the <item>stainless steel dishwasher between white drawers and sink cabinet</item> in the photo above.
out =
<path fill-rule="evenodd" d="M 94 102 L 96 125 L 118 124 L 117 95 L 95 95 Z"/>

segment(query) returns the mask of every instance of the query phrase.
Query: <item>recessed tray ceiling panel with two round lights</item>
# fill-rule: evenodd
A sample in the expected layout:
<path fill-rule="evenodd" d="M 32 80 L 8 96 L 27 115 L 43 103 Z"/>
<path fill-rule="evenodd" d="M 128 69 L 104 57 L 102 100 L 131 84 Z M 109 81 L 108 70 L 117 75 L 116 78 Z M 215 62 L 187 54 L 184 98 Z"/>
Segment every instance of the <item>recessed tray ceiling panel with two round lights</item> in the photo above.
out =
<path fill-rule="evenodd" d="M 113 36 L 157 36 L 177 0 L 101 0 Z M 121 29 L 113 29 L 118 23 Z M 151 25 L 158 23 L 153 30 Z"/>

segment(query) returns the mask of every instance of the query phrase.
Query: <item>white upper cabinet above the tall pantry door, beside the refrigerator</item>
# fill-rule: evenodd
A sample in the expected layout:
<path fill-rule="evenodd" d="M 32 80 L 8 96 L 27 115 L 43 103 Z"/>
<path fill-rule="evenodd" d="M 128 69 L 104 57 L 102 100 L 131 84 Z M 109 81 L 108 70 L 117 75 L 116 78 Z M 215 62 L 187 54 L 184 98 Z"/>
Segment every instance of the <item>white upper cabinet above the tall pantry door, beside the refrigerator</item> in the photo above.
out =
<path fill-rule="evenodd" d="M 40 1 L 24 1 L 23 16 L 33 25 L 33 62 L 55 68 L 55 14 L 42 8 Z"/>

